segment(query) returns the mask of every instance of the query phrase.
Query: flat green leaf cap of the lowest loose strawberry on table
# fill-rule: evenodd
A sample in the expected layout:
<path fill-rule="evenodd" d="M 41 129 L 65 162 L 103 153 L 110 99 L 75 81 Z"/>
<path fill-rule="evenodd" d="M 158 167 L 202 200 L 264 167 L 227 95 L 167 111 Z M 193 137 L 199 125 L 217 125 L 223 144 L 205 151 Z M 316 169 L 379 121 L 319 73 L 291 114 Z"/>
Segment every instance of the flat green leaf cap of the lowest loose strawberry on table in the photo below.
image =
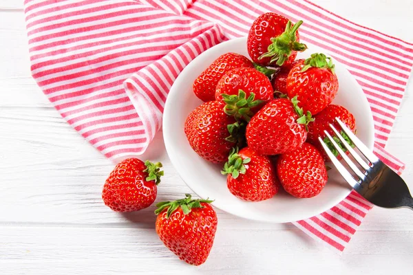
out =
<path fill-rule="evenodd" d="M 192 208 L 203 208 L 202 202 L 211 203 L 213 201 L 209 199 L 191 199 L 191 194 L 185 194 L 184 199 L 177 199 L 176 201 L 161 201 L 156 203 L 157 209 L 155 214 L 159 214 L 163 210 L 167 209 L 167 219 L 171 217 L 171 214 L 180 207 L 184 214 L 189 214 Z"/>

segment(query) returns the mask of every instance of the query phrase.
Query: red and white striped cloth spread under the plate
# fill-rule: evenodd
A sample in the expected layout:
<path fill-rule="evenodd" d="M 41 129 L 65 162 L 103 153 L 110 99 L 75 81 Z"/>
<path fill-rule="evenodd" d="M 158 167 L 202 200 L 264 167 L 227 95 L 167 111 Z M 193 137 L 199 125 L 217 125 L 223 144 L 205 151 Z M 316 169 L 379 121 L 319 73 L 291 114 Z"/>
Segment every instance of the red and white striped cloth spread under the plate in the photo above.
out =
<path fill-rule="evenodd" d="M 105 156 L 140 154 L 160 129 L 168 91 L 195 56 L 245 36 L 253 20 L 277 12 L 302 19 L 301 41 L 326 49 L 357 79 L 383 150 L 413 64 L 413 44 L 364 28 L 310 1 L 26 0 L 32 75 L 76 131 Z M 342 251 L 372 206 L 352 192 L 337 206 L 297 221 Z"/>

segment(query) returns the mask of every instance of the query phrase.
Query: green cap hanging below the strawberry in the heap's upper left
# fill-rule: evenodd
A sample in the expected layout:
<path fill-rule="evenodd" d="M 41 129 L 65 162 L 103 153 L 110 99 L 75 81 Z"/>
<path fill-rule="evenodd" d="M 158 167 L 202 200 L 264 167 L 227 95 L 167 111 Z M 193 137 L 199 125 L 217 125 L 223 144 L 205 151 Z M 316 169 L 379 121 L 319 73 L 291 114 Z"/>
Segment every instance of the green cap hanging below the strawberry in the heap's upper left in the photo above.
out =
<path fill-rule="evenodd" d="M 246 94 L 242 89 L 238 90 L 238 95 L 229 96 L 227 94 L 222 94 L 221 96 L 226 103 L 224 112 L 227 115 L 233 116 L 237 121 L 245 120 L 246 122 L 249 122 L 254 115 L 251 109 L 264 102 L 263 100 L 254 100 L 254 93 L 251 93 L 248 98 L 245 98 Z"/>

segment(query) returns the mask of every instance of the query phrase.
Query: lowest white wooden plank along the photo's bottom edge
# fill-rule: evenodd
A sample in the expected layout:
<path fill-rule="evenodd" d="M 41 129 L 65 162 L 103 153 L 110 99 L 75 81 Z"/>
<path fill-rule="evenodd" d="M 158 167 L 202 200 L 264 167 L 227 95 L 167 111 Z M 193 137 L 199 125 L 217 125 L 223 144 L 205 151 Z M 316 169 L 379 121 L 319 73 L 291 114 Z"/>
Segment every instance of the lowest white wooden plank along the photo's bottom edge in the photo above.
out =
<path fill-rule="evenodd" d="M 204 265 L 181 262 L 153 228 L 0 228 L 0 265 L 16 273 L 48 274 L 405 274 L 413 236 L 359 232 L 339 257 L 297 229 L 277 232 L 218 228 Z M 362 264 L 361 264 L 362 263 Z M 310 267 L 310 268 L 309 268 Z M 278 273 L 277 273 L 278 274 Z"/>

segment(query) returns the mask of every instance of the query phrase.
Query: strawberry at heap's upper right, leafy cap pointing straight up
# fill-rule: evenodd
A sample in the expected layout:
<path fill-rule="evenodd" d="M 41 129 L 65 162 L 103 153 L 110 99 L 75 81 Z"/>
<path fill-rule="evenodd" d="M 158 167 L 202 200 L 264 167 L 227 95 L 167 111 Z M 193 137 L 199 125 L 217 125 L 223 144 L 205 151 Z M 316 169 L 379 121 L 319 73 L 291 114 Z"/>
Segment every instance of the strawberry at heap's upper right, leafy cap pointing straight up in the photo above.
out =
<path fill-rule="evenodd" d="M 330 57 L 311 54 L 291 69 L 287 77 L 287 96 L 297 96 L 303 110 L 319 113 L 337 95 L 339 81 Z"/>

